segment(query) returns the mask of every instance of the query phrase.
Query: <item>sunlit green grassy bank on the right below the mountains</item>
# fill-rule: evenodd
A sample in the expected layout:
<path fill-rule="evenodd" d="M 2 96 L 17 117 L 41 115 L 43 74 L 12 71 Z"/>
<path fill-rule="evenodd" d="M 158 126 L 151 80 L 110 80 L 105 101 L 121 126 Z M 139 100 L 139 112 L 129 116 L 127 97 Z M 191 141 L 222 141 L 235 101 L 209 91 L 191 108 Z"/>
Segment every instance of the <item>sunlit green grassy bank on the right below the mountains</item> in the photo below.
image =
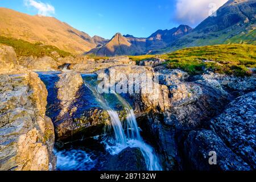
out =
<path fill-rule="evenodd" d="M 252 73 L 250 68 L 256 67 L 256 46 L 229 44 L 192 47 L 160 55 L 160 57 L 167 60 L 164 63 L 167 68 L 183 69 L 191 75 L 213 71 L 228 75 L 250 76 Z M 138 61 L 146 58 L 134 56 L 133 59 Z"/>

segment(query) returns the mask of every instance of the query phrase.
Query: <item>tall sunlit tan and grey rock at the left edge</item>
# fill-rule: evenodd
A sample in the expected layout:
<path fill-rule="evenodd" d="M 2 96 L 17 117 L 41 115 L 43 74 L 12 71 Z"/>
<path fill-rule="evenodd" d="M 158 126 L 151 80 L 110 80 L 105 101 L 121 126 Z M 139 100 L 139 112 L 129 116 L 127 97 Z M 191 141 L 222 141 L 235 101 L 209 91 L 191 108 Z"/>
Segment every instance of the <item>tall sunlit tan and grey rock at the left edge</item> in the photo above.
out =
<path fill-rule="evenodd" d="M 47 90 L 36 73 L 0 75 L 0 170 L 55 169 Z"/>

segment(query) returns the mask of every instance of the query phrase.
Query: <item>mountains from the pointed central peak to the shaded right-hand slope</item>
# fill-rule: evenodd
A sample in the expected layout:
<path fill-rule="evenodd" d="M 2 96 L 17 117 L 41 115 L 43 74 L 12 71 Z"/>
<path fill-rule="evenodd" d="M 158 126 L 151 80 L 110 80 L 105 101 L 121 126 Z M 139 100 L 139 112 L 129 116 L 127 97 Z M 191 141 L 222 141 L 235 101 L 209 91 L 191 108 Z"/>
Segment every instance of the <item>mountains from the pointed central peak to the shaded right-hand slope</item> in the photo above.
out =
<path fill-rule="evenodd" d="M 158 30 L 148 38 L 116 34 L 104 46 L 87 53 L 100 56 L 143 55 L 214 44 L 256 44 L 255 13 L 256 0 L 229 0 L 217 10 L 217 16 L 209 16 L 195 29 L 181 25 L 171 30 Z M 117 37 L 121 38 L 120 41 L 115 41 Z"/>

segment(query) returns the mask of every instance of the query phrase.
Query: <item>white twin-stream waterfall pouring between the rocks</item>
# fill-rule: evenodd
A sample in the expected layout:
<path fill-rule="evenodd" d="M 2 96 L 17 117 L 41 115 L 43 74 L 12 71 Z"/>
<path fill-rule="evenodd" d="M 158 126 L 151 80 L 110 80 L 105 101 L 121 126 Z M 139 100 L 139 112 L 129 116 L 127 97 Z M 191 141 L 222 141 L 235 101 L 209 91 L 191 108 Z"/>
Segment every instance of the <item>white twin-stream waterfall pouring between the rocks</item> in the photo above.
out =
<path fill-rule="evenodd" d="M 104 142 L 106 144 L 106 150 L 109 151 L 110 154 L 115 155 L 119 154 L 119 152 L 127 147 L 139 148 L 145 159 L 147 169 L 149 171 L 161 171 L 162 168 L 159 164 L 159 160 L 155 155 L 153 148 L 144 142 L 141 134 L 139 133 L 140 129 L 138 127 L 134 111 L 130 104 L 121 96 L 119 96 L 119 94 L 115 93 L 115 96 L 122 103 L 123 107 L 127 112 L 126 124 L 123 128 L 117 111 L 111 109 L 111 107 L 108 105 L 108 102 L 105 100 L 104 97 L 101 96 L 100 93 L 97 92 L 96 88 L 94 88 L 90 84 L 87 84 L 86 81 L 84 81 L 84 83 L 85 86 L 92 91 L 94 97 L 96 97 L 97 101 L 100 103 L 103 109 L 106 109 L 108 111 L 111 119 L 111 126 L 114 130 L 115 140 L 113 145 L 110 145 L 108 142 Z M 127 136 L 125 134 L 125 131 L 127 133 Z"/>

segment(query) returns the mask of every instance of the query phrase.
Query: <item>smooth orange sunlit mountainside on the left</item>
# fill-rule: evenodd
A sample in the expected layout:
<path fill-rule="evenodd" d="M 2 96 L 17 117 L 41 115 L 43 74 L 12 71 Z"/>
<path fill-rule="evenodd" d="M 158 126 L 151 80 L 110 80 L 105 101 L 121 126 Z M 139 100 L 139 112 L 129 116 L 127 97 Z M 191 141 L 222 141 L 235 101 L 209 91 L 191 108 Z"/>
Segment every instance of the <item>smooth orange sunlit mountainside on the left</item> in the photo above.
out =
<path fill-rule="evenodd" d="M 83 53 L 97 46 L 88 34 L 56 18 L 31 16 L 2 7 L 0 7 L 0 35 L 31 43 L 42 42 L 72 53 Z"/>

